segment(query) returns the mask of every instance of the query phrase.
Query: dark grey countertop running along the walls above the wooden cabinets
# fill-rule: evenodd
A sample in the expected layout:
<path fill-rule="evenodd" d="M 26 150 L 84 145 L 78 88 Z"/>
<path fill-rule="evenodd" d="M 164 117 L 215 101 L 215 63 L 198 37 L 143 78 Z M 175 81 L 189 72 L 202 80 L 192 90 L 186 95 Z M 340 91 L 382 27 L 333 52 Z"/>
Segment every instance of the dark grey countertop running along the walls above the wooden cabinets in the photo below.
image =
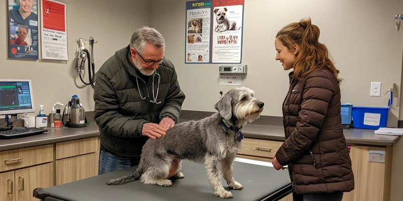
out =
<path fill-rule="evenodd" d="M 47 130 L 47 132 L 40 135 L 0 140 L 0 151 L 99 136 L 98 125 L 93 122 L 85 128 L 63 127 L 47 128 Z M 245 126 L 242 133 L 245 138 L 285 141 L 283 127 L 250 124 Z M 345 129 L 344 135 L 349 145 L 394 146 L 400 139 L 398 136 L 374 134 L 374 130 L 367 129 Z"/>

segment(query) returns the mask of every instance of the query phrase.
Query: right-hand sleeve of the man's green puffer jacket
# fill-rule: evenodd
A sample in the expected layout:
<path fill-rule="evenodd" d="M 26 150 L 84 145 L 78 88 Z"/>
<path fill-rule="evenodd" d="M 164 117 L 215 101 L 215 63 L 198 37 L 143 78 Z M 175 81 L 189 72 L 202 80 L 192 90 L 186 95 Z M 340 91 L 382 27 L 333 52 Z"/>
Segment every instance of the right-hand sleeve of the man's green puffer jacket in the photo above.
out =
<path fill-rule="evenodd" d="M 173 66 L 173 64 L 171 65 Z M 170 117 L 175 123 L 178 123 L 184 99 L 185 94 L 180 89 L 178 77 L 176 75 L 175 68 L 173 67 L 168 94 L 165 97 L 164 107 L 160 112 L 160 121 L 164 117 Z"/>

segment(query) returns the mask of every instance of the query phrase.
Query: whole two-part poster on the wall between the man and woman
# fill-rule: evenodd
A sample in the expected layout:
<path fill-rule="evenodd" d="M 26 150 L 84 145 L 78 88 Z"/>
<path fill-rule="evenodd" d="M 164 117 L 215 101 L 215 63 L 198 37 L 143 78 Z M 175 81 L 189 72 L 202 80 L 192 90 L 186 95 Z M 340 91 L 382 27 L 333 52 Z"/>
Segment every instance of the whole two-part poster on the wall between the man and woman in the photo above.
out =
<path fill-rule="evenodd" d="M 186 2 L 185 63 L 241 63 L 244 0 Z"/>

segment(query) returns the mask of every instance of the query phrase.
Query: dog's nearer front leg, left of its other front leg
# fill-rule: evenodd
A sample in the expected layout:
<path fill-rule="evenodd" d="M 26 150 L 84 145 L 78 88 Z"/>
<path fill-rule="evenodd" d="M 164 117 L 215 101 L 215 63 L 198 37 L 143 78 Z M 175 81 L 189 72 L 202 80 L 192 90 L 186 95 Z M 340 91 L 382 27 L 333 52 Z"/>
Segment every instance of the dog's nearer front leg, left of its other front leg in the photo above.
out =
<path fill-rule="evenodd" d="M 232 193 L 224 189 L 221 181 L 220 174 L 220 161 L 217 157 L 207 154 L 205 157 L 205 165 L 207 168 L 207 175 L 209 175 L 209 182 L 214 189 L 214 193 L 222 198 L 234 197 Z"/>

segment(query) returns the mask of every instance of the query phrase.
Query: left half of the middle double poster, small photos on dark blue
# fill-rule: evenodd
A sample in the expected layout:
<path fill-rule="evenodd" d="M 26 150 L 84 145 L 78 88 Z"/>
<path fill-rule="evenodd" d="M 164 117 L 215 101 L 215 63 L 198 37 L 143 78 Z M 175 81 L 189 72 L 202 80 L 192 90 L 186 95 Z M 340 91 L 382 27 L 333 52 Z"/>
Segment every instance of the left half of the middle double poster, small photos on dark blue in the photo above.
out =
<path fill-rule="evenodd" d="M 186 2 L 185 63 L 209 63 L 211 1 Z"/>

